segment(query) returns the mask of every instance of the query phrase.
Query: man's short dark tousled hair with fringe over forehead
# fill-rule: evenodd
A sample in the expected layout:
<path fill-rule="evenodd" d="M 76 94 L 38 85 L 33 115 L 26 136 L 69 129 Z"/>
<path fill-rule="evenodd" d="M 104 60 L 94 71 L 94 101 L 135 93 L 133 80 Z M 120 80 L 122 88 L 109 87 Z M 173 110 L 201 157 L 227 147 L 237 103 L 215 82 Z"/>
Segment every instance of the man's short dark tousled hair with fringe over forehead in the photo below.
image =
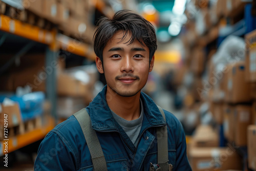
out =
<path fill-rule="evenodd" d="M 126 36 L 127 32 L 132 34 L 128 41 L 132 44 L 138 40 L 142 46 L 147 46 L 150 50 L 150 61 L 157 49 L 157 38 L 154 26 L 145 18 L 130 10 L 121 10 L 115 13 L 112 18 L 101 17 L 98 28 L 94 33 L 94 52 L 103 63 L 103 49 L 108 41 L 117 31 L 123 30 L 124 34 L 120 41 Z M 128 42 L 125 42 L 128 43 Z"/>

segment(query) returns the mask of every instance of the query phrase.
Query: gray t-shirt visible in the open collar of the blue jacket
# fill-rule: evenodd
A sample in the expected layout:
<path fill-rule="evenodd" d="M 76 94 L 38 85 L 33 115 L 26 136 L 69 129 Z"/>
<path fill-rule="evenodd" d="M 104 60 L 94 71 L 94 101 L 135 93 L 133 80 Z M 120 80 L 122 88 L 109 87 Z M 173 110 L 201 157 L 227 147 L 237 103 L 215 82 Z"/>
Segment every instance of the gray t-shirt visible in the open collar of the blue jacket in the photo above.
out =
<path fill-rule="evenodd" d="M 135 120 L 125 120 L 111 110 L 113 117 L 115 118 L 117 123 L 122 127 L 124 132 L 131 139 L 131 141 L 134 143 L 135 146 L 137 146 L 138 144 L 138 138 L 140 134 L 140 129 L 141 129 L 142 120 L 143 120 L 143 113 L 144 113 L 141 100 L 140 100 L 140 106 L 141 106 L 140 117 Z"/>

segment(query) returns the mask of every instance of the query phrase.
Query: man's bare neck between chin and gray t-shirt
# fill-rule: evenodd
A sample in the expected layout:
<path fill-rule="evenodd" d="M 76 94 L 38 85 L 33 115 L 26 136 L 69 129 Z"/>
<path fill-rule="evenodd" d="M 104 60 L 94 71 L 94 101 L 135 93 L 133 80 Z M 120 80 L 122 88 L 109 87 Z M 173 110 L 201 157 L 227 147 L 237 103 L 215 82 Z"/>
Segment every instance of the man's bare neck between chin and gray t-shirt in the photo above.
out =
<path fill-rule="evenodd" d="M 140 91 L 132 97 L 123 97 L 107 86 L 106 101 L 109 108 L 125 120 L 135 120 L 140 117 Z"/>

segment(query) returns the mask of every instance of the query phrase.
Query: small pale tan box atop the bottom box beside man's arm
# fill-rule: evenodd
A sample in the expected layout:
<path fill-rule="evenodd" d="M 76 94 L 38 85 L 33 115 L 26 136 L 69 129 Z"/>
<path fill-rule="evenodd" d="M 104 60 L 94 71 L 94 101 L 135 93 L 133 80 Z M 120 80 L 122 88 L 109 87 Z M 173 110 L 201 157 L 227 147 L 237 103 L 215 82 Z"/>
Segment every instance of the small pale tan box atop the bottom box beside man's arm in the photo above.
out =
<path fill-rule="evenodd" d="M 193 144 L 196 147 L 217 147 L 219 137 L 211 126 L 199 125 L 193 136 Z"/>

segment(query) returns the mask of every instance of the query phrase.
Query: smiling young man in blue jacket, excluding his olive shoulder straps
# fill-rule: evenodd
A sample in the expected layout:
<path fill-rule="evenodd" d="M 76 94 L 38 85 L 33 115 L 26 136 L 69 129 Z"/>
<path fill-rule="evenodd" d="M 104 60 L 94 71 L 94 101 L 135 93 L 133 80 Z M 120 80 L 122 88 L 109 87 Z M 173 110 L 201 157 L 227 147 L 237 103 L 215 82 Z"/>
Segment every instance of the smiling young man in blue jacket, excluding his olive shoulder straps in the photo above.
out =
<path fill-rule="evenodd" d="M 181 123 L 141 92 L 154 66 L 154 27 L 131 11 L 103 17 L 94 35 L 96 65 L 106 86 L 86 108 L 108 170 L 150 170 L 157 164 L 157 127 L 167 124 L 168 163 L 173 170 L 191 170 Z M 167 155 L 166 155 L 167 156 Z M 34 169 L 93 170 L 89 147 L 72 115 L 41 142 Z"/>

